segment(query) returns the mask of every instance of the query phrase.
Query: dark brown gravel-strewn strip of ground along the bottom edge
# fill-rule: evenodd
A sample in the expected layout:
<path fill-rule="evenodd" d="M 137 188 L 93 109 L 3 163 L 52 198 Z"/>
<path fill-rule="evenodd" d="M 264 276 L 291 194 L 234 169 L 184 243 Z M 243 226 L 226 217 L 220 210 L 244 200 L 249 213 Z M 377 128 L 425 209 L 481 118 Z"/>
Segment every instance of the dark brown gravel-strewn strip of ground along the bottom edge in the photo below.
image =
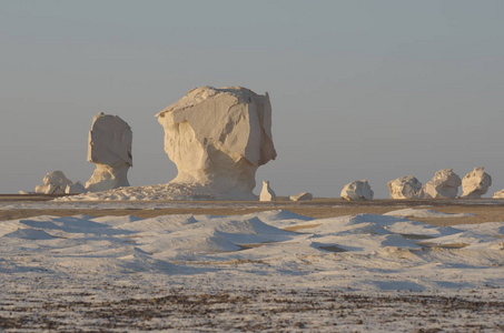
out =
<path fill-rule="evenodd" d="M 9 293 L 0 301 L 0 329 L 102 331 L 503 332 L 503 301 L 428 294 L 365 295 L 329 290 L 174 289 L 156 295 L 137 287 L 49 291 L 47 297 Z M 146 291 L 148 294 L 151 292 Z M 119 296 L 118 296 L 119 295 Z"/>

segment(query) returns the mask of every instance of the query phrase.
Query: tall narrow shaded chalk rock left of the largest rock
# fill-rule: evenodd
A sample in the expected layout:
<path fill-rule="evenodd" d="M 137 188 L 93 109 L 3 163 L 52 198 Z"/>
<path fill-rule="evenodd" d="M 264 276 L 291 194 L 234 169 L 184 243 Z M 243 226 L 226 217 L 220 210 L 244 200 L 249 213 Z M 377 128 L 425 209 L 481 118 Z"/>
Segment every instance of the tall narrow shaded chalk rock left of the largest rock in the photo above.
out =
<path fill-rule="evenodd" d="M 100 112 L 93 118 L 89 131 L 88 161 L 97 168 L 86 189 L 97 192 L 129 186 L 131 142 L 131 128 L 119 117 Z"/>

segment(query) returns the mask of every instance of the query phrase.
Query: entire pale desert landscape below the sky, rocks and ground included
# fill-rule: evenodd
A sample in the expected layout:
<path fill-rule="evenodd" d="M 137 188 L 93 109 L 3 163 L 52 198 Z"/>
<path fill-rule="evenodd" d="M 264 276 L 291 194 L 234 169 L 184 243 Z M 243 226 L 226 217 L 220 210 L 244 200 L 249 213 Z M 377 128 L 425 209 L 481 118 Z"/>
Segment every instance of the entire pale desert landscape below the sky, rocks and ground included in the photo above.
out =
<path fill-rule="evenodd" d="M 197 88 L 157 119 L 169 183 L 129 186 L 131 129 L 99 113 L 87 189 L 62 172 L 39 188 L 90 192 L 0 200 L 0 330 L 503 327 L 504 208 L 481 199 L 483 168 L 395 179 L 401 200 L 374 199 L 367 180 L 342 199 L 277 198 L 269 181 L 257 196 L 276 158 L 267 93 Z"/>

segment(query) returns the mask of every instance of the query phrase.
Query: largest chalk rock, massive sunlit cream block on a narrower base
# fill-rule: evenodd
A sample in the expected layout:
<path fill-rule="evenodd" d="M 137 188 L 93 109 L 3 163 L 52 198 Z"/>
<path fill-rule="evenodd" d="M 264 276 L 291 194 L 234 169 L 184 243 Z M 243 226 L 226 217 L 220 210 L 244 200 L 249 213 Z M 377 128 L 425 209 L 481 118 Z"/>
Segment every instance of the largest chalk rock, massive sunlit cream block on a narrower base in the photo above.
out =
<path fill-rule="evenodd" d="M 251 192 L 256 170 L 276 158 L 267 93 L 196 88 L 156 117 L 165 129 L 165 151 L 178 170 L 171 184 L 218 198 L 257 200 Z"/>

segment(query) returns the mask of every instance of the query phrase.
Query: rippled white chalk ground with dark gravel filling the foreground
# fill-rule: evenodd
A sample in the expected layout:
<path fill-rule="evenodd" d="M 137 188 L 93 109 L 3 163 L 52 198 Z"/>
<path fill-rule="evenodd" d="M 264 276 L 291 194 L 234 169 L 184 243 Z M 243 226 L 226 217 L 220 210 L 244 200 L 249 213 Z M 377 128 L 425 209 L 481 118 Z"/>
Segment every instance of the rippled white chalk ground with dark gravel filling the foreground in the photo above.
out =
<path fill-rule="evenodd" d="M 0 222 L 0 330 L 504 329 L 504 222 L 397 213 Z"/>

